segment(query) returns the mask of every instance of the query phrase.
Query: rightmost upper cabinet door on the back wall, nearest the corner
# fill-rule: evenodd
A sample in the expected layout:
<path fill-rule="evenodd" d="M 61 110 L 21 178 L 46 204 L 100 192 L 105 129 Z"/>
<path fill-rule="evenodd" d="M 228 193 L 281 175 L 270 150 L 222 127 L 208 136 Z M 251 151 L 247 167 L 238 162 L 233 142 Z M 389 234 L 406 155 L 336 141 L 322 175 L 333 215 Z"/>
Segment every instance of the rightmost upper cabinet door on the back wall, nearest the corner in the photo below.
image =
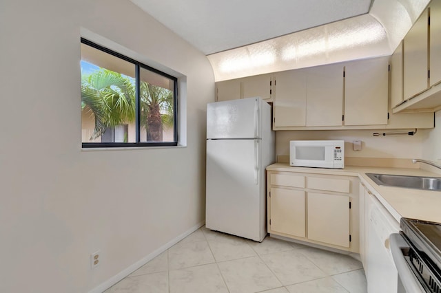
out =
<path fill-rule="evenodd" d="M 389 57 L 349 62 L 345 68 L 345 125 L 387 124 Z"/>

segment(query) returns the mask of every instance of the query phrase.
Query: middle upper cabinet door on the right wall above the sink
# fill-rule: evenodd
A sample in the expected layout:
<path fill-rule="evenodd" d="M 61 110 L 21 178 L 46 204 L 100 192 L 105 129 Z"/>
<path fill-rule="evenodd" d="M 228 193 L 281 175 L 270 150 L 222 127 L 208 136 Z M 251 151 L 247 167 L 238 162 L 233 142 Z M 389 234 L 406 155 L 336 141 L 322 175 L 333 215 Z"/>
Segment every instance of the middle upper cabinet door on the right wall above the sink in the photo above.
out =
<path fill-rule="evenodd" d="M 404 36 L 404 100 L 428 87 L 427 76 L 427 10 Z"/>

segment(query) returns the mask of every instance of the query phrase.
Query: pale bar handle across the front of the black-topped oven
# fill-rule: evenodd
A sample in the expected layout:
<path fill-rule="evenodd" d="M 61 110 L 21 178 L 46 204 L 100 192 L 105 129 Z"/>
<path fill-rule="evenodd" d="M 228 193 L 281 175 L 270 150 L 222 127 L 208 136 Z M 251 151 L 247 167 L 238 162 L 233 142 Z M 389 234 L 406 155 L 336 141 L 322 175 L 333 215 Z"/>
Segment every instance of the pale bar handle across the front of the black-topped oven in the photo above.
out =
<path fill-rule="evenodd" d="M 420 281 L 416 278 L 415 274 L 409 268 L 409 264 L 404 259 L 401 248 L 409 248 L 409 245 L 404 241 L 402 236 L 398 233 L 393 233 L 389 237 L 389 244 L 391 247 L 393 262 L 398 271 L 398 276 L 400 277 L 401 283 L 406 290 L 406 292 L 412 293 L 424 293 L 426 292 Z"/>

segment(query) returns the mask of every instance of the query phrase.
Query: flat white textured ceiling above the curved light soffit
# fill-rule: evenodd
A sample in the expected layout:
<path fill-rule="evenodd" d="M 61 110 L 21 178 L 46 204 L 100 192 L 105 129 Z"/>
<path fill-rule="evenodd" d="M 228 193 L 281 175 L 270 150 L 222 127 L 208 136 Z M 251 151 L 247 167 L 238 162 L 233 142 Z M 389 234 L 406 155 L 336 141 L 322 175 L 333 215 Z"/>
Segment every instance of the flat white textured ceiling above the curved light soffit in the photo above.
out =
<path fill-rule="evenodd" d="M 366 14 L 371 0 L 131 0 L 205 54 Z"/>

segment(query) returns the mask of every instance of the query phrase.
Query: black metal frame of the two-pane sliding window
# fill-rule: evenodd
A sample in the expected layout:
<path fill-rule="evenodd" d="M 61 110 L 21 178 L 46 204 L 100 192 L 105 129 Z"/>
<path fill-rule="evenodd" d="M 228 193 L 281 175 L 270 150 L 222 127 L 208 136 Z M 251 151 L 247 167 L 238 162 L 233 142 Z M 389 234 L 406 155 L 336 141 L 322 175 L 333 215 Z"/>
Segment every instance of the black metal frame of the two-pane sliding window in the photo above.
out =
<path fill-rule="evenodd" d="M 103 47 L 98 45 L 92 41 L 81 38 L 81 43 L 85 45 L 89 45 L 90 47 L 94 47 L 95 49 L 101 50 L 107 54 L 111 54 L 118 58 L 121 58 L 125 61 L 133 63 L 135 65 L 135 80 L 136 80 L 136 113 L 135 113 L 135 124 L 136 124 L 136 142 L 81 142 L 81 146 L 83 149 L 93 149 L 93 148 L 110 148 L 110 147 L 139 147 L 139 146 L 177 146 L 178 145 L 178 78 L 175 76 L 171 76 L 170 74 L 166 74 L 165 72 L 161 72 L 158 69 L 150 67 L 149 65 L 145 65 L 139 61 L 136 61 L 130 57 L 127 57 L 123 54 L 115 52 L 113 50 L 108 49 L 107 47 Z M 174 113 L 173 113 L 173 127 L 174 127 L 174 142 L 140 142 L 140 131 L 141 131 L 141 100 L 139 97 L 139 76 L 141 68 L 147 69 L 155 74 L 164 76 L 174 81 Z"/>

